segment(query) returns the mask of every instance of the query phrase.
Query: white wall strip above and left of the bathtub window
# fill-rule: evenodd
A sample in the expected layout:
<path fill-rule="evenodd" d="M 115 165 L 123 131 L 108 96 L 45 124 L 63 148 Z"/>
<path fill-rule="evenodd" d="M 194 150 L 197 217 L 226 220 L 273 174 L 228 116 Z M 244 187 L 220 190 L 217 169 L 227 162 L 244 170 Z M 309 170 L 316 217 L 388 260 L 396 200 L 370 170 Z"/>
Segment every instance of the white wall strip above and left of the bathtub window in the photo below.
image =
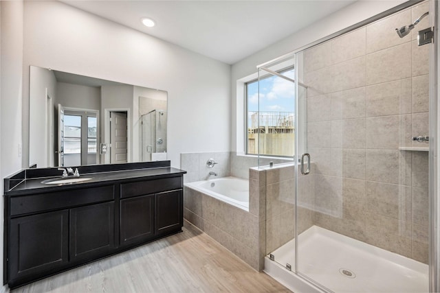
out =
<path fill-rule="evenodd" d="M 339 32 L 346 27 L 355 25 L 360 21 L 369 19 L 380 12 L 391 9 L 406 1 L 356 1 L 355 3 L 327 16 L 325 19 L 306 27 L 300 32 L 296 32 L 287 38 L 266 47 L 265 49 L 236 62 L 232 65 L 231 72 L 231 150 L 243 152 L 243 131 L 244 124 L 241 113 L 243 113 L 243 86 L 237 86 L 237 80 L 256 73 L 256 66 L 268 62 L 291 51 L 296 51 L 302 47 L 313 43 L 316 40 L 325 38 L 331 34 Z M 239 97 L 237 99 L 237 96 Z M 237 113 L 240 110 L 240 113 Z M 238 137 L 238 139 L 237 139 Z"/>

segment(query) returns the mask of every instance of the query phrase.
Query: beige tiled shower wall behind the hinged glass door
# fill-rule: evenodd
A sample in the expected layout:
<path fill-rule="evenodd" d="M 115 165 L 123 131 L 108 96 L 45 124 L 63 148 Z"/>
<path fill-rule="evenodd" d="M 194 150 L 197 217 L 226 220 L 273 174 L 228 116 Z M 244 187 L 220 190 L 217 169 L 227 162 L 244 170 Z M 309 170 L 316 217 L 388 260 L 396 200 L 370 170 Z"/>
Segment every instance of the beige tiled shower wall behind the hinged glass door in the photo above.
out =
<path fill-rule="evenodd" d="M 314 224 L 428 261 L 428 47 L 399 38 L 428 3 L 303 54 L 307 144 L 314 165 Z M 300 195 L 299 195 L 300 196 Z M 268 195 L 267 198 L 270 198 Z"/>

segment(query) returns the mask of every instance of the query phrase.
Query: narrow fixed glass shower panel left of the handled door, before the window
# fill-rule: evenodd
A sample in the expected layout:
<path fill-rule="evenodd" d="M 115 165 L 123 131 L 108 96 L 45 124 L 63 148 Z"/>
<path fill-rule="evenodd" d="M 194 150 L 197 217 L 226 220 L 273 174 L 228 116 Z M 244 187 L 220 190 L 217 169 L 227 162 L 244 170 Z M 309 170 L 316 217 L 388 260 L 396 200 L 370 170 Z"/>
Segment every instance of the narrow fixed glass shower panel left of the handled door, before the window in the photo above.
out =
<path fill-rule="evenodd" d="M 295 72 L 294 56 L 261 67 L 258 93 L 248 93 L 258 97 L 256 107 L 248 105 L 248 139 L 252 139 L 248 145 L 256 145 L 259 168 L 266 174 L 266 254 L 292 271 L 296 232 Z"/>

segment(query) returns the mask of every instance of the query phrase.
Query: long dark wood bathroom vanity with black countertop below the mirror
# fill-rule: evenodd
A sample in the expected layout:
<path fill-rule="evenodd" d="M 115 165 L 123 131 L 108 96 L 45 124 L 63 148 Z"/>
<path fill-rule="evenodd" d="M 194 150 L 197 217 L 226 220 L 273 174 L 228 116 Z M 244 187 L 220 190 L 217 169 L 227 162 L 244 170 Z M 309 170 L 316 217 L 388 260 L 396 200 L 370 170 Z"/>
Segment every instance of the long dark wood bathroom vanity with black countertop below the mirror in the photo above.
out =
<path fill-rule="evenodd" d="M 78 169 L 87 180 L 42 183 L 63 179 L 57 168 L 5 178 L 3 284 L 16 288 L 181 232 L 186 172 L 170 161 Z"/>

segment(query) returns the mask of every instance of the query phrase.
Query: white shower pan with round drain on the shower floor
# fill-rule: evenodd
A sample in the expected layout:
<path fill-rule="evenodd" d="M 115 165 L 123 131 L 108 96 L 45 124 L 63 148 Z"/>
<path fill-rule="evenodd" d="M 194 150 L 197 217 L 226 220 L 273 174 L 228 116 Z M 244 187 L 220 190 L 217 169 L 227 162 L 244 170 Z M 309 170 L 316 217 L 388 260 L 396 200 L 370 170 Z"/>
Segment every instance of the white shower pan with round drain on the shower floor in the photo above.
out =
<path fill-rule="evenodd" d="M 293 239 L 272 253 L 276 261 L 265 257 L 265 272 L 295 292 L 320 292 L 283 267 L 294 270 L 294 253 Z M 338 293 L 429 291 L 428 265 L 318 226 L 298 236 L 298 272 Z"/>

